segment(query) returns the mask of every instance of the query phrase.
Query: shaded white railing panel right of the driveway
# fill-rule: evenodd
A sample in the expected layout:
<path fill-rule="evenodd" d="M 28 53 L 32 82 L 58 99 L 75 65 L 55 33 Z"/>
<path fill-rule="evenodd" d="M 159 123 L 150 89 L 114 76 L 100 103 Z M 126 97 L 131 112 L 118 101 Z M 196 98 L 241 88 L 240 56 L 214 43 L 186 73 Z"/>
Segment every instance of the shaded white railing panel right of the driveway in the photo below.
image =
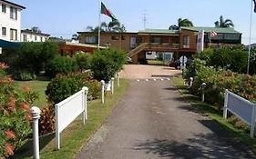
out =
<path fill-rule="evenodd" d="M 256 104 L 242 98 L 237 94 L 233 94 L 226 90 L 225 92 L 225 102 L 223 108 L 223 117 L 227 119 L 228 111 L 239 117 L 244 123 L 250 125 L 251 137 L 254 136 L 255 127 L 255 111 Z"/>

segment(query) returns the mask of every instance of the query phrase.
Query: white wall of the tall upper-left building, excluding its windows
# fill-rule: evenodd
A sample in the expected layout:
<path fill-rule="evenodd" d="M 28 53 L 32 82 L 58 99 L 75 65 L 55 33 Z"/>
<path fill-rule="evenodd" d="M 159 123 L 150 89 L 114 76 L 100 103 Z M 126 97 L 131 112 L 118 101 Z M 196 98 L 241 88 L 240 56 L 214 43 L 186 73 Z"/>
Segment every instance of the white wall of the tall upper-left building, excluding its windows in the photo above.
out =
<path fill-rule="evenodd" d="M 17 40 L 14 42 L 20 42 L 20 34 L 21 34 L 21 9 L 17 8 L 15 5 L 6 5 L 6 13 L 2 12 L 2 4 L 4 2 L 0 1 L 0 39 L 11 41 L 10 40 L 10 29 L 16 29 L 17 31 Z M 17 8 L 17 20 L 10 18 L 10 7 Z M 6 35 L 2 35 L 2 27 L 6 28 Z"/>

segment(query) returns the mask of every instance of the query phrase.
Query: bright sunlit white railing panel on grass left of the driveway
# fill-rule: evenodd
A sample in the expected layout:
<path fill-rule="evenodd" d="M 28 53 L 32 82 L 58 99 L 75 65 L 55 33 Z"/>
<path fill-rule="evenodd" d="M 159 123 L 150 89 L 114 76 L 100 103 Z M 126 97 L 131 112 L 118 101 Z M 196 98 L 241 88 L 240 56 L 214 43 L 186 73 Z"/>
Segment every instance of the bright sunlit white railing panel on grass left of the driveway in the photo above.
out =
<path fill-rule="evenodd" d="M 56 150 L 60 148 L 61 132 L 68 124 L 71 124 L 78 115 L 82 114 L 83 124 L 86 123 L 87 93 L 88 88 L 83 87 L 81 91 L 56 104 Z"/>

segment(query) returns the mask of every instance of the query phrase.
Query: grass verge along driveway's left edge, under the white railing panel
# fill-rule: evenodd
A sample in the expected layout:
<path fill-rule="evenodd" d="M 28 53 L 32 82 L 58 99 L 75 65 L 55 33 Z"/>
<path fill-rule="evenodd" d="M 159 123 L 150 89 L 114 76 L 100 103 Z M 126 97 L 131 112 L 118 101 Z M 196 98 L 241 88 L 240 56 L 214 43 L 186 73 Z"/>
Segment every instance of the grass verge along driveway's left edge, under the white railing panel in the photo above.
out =
<path fill-rule="evenodd" d="M 40 138 L 40 158 L 74 158 L 77 152 L 87 143 L 90 136 L 106 121 L 118 100 L 126 93 L 128 81 L 121 80 L 120 87 L 115 87 L 115 94 L 107 94 L 105 104 L 100 100 L 90 101 L 87 104 L 87 124 L 83 125 L 78 117 L 61 134 L 61 148 L 55 151 L 55 134 L 49 134 Z M 32 158 L 32 142 L 28 142 L 15 158 Z M 27 151 L 28 150 L 28 151 Z"/>

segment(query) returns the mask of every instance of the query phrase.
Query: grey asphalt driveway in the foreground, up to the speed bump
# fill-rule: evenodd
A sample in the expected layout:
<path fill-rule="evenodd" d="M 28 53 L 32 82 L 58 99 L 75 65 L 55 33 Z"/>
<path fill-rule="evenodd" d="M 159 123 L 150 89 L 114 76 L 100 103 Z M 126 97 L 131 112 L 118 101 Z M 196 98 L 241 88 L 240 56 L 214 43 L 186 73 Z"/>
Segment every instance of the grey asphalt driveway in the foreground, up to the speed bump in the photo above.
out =
<path fill-rule="evenodd" d="M 138 76 L 136 76 L 138 77 Z M 139 76 L 140 77 L 140 76 Z M 143 76 L 145 77 L 145 76 Z M 77 159 L 255 158 L 166 80 L 131 80 L 113 114 Z"/>

